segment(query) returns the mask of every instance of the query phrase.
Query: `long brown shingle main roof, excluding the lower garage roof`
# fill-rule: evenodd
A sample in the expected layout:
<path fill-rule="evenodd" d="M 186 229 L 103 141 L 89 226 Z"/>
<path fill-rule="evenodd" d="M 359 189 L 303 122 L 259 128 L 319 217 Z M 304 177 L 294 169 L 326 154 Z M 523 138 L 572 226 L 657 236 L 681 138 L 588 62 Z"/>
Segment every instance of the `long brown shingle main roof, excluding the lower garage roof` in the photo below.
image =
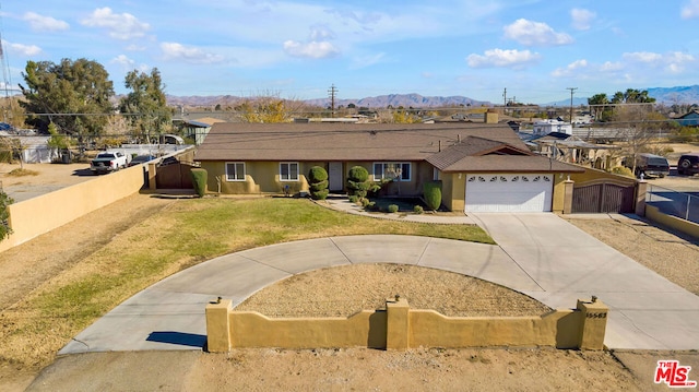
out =
<path fill-rule="evenodd" d="M 526 150 L 507 124 L 213 124 L 197 161 L 425 161 L 469 136 Z"/>

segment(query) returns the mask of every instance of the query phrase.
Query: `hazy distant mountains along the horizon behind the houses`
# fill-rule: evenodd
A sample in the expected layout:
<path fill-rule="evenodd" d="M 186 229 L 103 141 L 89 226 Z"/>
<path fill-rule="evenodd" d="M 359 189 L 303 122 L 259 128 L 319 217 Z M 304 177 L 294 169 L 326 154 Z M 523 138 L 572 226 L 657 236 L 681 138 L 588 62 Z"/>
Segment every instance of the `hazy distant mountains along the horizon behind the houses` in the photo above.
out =
<path fill-rule="evenodd" d="M 647 88 L 648 95 L 655 98 L 659 104 L 673 105 L 673 104 L 699 104 L 699 85 L 692 86 L 677 86 L 677 87 L 654 87 Z M 614 95 L 614 92 L 608 93 L 609 98 Z M 236 106 L 239 103 L 249 99 L 250 97 L 240 97 L 234 95 L 215 95 L 215 96 L 173 96 L 167 95 L 167 103 L 170 106 L 185 106 L 185 107 L 213 107 L 221 105 L 222 107 Z M 306 99 L 307 105 L 329 107 L 330 98 L 320 99 Z M 465 96 L 423 96 L 419 94 L 389 94 L 379 95 L 375 97 L 365 97 L 358 99 L 335 99 L 335 107 L 355 105 L 359 107 L 368 108 L 386 108 L 392 107 L 413 107 L 413 108 L 429 108 L 429 107 L 450 107 L 450 106 L 493 106 L 494 104 L 487 100 L 478 100 Z M 524 103 L 531 104 L 531 103 Z M 561 99 L 553 103 L 538 103 L 542 106 L 569 106 L 570 99 Z M 573 97 L 574 106 L 588 105 L 588 97 Z"/>

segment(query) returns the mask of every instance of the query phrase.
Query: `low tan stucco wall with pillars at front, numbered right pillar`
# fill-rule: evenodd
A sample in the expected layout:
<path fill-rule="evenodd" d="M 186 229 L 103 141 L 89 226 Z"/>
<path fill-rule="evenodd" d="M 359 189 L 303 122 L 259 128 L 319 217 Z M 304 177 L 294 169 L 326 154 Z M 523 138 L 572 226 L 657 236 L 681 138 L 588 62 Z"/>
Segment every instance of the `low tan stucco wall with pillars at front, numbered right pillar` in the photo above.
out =
<path fill-rule="evenodd" d="M 602 301 L 578 300 L 577 309 L 541 317 L 458 318 L 433 310 L 410 309 L 405 299 L 387 309 L 365 310 L 350 318 L 271 319 L 230 309 L 230 300 L 206 306 L 210 352 L 242 347 L 533 347 L 604 348 L 608 308 Z"/>

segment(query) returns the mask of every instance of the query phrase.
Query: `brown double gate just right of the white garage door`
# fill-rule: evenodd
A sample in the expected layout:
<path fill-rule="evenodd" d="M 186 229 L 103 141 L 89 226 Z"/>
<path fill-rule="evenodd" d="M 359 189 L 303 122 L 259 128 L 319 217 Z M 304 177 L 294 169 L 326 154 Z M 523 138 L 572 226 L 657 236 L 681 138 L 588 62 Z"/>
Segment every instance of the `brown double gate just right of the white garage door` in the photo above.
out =
<path fill-rule="evenodd" d="M 635 186 L 602 182 L 574 187 L 572 213 L 632 213 Z"/>

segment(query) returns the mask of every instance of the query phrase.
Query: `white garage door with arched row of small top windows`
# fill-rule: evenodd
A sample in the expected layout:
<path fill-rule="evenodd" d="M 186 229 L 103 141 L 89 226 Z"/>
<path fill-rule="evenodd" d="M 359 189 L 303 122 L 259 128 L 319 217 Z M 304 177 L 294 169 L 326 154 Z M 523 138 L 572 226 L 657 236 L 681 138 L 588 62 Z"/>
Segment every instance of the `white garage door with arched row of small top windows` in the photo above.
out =
<path fill-rule="evenodd" d="M 466 212 L 548 212 L 553 175 L 467 175 Z"/>

